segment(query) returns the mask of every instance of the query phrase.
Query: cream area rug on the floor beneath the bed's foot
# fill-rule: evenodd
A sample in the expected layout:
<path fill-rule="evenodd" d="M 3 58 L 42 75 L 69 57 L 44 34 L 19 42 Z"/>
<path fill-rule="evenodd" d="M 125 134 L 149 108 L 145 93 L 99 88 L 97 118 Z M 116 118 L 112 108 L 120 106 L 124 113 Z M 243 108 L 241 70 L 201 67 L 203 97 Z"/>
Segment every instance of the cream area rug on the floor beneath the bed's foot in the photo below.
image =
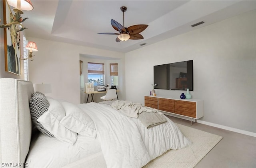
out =
<path fill-rule="evenodd" d="M 163 155 L 151 160 L 143 168 L 193 168 L 222 139 L 222 136 L 181 124 L 177 125 L 193 144 L 179 150 L 168 150 Z"/>

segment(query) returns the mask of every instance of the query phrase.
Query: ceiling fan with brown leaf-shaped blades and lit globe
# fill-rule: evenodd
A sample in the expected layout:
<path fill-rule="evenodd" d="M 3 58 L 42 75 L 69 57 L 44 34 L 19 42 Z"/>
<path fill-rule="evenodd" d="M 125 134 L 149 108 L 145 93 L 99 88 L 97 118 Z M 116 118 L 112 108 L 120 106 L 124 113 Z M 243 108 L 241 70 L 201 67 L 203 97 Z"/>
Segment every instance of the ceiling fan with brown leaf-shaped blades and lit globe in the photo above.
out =
<path fill-rule="evenodd" d="M 120 10 L 123 12 L 123 20 L 124 20 L 124 12 L 127 10 L 125 6 L 122 6 Z M 98 33 L 98 34 L 110 34 L 110 35 L 118 35 L 116 38 L 116 42 L 126 41 L 128 39 L 131 40 L 139 40 L 143 39 L 143 36 L 139 34 L 143 30 L 145 30 L 148 25 L 146 24 L 137 24 L 133 26 L 129 26 L 128 28 L 122 26 L 120 23 L 116 22 L 115 20 L 111 19 L 112 27 L 119 32 L 118 33 Z"/>

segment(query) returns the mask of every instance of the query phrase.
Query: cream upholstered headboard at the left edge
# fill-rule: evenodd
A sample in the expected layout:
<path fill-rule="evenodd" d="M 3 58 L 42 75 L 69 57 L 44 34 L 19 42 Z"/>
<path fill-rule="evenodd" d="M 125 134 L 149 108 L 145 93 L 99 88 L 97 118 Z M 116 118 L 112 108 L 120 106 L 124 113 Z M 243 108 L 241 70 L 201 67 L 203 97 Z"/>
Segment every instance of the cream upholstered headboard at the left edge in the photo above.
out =
<path fill-rule="evenodd" d="M 32 82 L 0 78 L 0 166 L 23 167 L 30 146 Z M 18 164 L 18 166 L 17 166 Z"/>

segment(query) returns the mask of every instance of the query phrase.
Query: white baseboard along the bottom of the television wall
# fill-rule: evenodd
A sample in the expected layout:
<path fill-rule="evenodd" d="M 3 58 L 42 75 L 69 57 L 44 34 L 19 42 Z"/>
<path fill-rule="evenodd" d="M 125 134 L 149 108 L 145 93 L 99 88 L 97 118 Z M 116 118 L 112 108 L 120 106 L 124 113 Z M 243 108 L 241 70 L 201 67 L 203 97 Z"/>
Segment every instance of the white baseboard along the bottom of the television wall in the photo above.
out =
<path fill-rule="evenodd" d="M 169 115 L 169 116 L 174 116 L 174 117 L 181 118 L 181 119 L 184 119 L 184 120 L 190 120 L 190 118 L 188 118 L 188 117 L 178 116 L 178 115 L 170 114 L 170 113 L 163 112 L 163 111 L 161 111 L 161 112 L 163 114 L 166 114 L 166 115 Z M 192 121 L 195 122 L 195 119 L 192 118 Z M 220 124 L 214 124 L 212 122 L 207 122 L 207 121 L 202 121 L 202 120 L 197 120 L 197 122 L 200 123 L 200 124 L 213 126 L 213 127 L 216 127 L 216 128 L 221 128 L 221 129 L 224 129 L 224 130 L 228 130 L 228 131 L 237 132 L 237 133 L 240 133 L 240 134 L 256 137 L 256 133 L 254 133 L 254 132 L 240 130 L 240 129 L 237 129 L 237 128 L 223 126 L 223 125 L 220 125 Z"/>

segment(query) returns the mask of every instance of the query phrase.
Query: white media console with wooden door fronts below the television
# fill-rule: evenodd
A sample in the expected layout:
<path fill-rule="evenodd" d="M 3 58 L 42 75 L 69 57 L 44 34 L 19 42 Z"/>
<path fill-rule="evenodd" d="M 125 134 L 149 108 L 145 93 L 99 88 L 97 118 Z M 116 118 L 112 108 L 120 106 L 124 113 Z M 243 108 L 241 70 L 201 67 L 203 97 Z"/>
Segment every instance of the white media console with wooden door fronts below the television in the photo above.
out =
<path fill-rule="evenodd" d="M 144 105 L 166 112 L 166 114 L 176 114 L 190 119 L 198 119 L 204 116 L 204 100 L 200 99 L 144 96 Z"/>

